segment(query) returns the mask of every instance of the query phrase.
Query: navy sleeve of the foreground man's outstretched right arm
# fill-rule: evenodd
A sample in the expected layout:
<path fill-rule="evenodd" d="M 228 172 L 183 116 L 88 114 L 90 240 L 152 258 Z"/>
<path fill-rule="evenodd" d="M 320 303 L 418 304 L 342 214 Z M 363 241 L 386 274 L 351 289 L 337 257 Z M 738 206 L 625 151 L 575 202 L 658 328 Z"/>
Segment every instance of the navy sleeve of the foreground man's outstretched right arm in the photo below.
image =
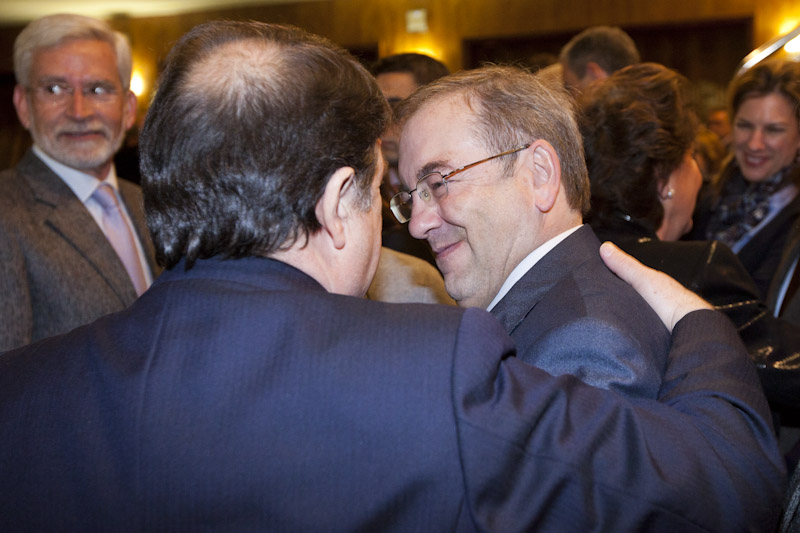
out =
<path fill-rule="evenodd" d="M 479 529 L 776 523 L 783 461 L 755 371 L 721 315 L 699 311 L 677 325 L 658 401 L 487 358 L 480 347 L 462 336 L 453 372 L 467 505 Z"/>

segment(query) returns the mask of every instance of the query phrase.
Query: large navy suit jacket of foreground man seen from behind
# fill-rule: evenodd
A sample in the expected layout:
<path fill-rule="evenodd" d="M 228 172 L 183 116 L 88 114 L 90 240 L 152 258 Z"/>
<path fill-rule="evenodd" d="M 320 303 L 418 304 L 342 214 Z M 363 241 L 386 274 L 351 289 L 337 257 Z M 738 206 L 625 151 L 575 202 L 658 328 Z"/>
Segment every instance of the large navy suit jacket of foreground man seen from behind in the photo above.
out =
<path fill-rule="evenodd" d="M 511 357 L 481 310 L 178 265 L 0 355 L 0 530 L 760 528 L 785 474 L 738 342 L 692 313 L 664 403 L 630 400 Z"/>

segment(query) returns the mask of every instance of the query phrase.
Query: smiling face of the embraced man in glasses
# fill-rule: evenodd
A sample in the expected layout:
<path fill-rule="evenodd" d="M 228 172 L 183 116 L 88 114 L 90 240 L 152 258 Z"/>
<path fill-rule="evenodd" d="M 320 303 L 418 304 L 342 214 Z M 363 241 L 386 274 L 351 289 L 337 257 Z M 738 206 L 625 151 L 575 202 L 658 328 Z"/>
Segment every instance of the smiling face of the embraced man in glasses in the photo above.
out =
<path fill-rule="evenodd" d="M 459 97 L 434 100 L 415 113 L 400 140 L 406 190 L 428 172 L 447 173 L 494 155 L 472 133 L 475 121 Z M 447 292 L 462 307 L 488 306 L 514 267 L 538 246 L 532 191 L 516 170 L 506 175 L 505 157 L 454 176 L 438 203 L 423 203 L 414 193 L 409 231 L 428 241 Z"/>

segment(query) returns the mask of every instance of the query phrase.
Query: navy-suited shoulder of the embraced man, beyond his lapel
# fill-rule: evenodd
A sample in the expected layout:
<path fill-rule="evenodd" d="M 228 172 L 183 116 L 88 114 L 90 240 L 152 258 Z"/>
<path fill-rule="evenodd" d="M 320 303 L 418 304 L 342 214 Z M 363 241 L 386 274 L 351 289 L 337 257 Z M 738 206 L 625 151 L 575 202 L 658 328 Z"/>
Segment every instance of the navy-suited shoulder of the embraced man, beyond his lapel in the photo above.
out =
<path fill-rule="evenodd" d="M 655 397 L 669 332 L 639 294 L 594 256 L 551 287 L 516 328 L 520 357 L 554 375 Z"/>

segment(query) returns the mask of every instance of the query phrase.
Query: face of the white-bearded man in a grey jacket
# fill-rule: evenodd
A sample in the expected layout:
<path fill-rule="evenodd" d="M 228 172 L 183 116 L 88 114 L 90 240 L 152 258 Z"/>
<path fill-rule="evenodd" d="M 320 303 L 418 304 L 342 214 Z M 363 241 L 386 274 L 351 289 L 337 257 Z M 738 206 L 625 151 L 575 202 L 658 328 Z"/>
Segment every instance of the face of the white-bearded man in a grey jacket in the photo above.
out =
<path fill-rule="evenodd" d="M 121 86 L 112 46 L 78 39 L 41 49 L 29 82 L 31 90 L 16 87 L 14 104 L 34 142 L 56 161 L 103 179 L 136 110 L 136 97 Z M 47 101 L 39 91 L 52 83 L 74 93 L 63 103 Z M 93 101 L 82 91 L 94 85 L 112 88 L 115 96 Z"/>

